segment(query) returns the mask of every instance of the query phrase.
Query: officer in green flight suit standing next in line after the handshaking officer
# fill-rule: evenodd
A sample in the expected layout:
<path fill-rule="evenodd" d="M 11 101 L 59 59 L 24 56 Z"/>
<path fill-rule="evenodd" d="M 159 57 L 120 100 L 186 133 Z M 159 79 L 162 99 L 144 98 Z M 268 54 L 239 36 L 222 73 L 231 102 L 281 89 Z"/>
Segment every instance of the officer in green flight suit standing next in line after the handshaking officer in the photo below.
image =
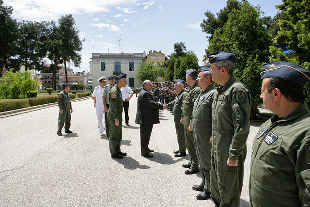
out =
<path fill-rule="evenodd" d="M 199 96 L 200 90 L 202 89 L 196 81 L 197 75 L 197 70 L 189 69 L 186 71 L 186 82 L 190 86 L 190 89 L 185 96 L 183 104 L 183 120 L 181 122 L 184 123 L 185 143 L 188 154 L 190 155 L 190 161 L 188 162 L 188 164 L 182 165 L 183 167 L 189 168 L 185 171 L 186 175 L 191 175 L 199 172 L 198 158 L 194 142 L 194 132 L 188 131 L 189 122 L 193 115 L 194 101 Z"/>

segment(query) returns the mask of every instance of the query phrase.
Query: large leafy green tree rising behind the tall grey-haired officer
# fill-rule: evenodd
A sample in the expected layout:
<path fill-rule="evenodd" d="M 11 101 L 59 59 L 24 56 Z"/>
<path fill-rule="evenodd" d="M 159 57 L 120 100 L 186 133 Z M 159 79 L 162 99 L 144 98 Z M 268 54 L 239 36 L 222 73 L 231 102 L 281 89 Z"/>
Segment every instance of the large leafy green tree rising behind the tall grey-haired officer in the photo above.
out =
<path fill-rule="evenodd" d="M 233 74 L 251 92 L 251 118 L 256 116 L 257 106 L 262 103 L 260 66 L 268 62 L 268 50 L 272 45 L 261 14 L 259 7 L 244 1 L 241 9 L 233 9 L 223 27 L 215 30 L 208 47 L 210 53 L 226 50 L 238 55 Z"/>

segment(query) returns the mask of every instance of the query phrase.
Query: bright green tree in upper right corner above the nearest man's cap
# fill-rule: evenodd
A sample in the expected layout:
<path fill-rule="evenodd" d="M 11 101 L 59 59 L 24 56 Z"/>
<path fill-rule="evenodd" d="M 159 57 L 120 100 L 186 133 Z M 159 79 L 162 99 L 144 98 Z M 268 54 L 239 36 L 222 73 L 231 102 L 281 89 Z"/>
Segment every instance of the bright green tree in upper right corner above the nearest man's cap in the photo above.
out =
<path fill-rule="evenodd" d="M 294 50 L 293 56 L 286 56 L 281 49 L 270 47 L 270 61 L 289 61 L 310 69 L 310 2 L 309 0 L 282 0 L 277 5 L 286 18 L 279 18 L 278 44 L 287 43 Z M 310 107 L 310 83 L 304 90 L 305 100 Z"/>

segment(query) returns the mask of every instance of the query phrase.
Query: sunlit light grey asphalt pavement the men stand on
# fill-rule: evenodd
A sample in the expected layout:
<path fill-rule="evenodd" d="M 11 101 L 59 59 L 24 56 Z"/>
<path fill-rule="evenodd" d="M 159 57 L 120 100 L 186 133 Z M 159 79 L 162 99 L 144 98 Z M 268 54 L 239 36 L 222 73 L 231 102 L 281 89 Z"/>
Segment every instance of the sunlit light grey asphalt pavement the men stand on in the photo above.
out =
<path fill-rule="evenodd" d="M 173 116 L 160 111 L 149 147 L 153 158 L 140 155 L 140 126 L 134 124 L 137 98 L 129 103 L 129 127 L 123 113 L 121 150 L 128 156 L 111 159 L 109 141 L 100 136 L 93 100 L 72 102 L 72 134 L 57 136 L 58 106 L 0 117 L 1 207 L 213 207 L 198 201 L 193 185 L 200 174 L 185 175 L 189 155 L 175 158 L 178 149 Z M 249 161 L 261 123 L 251 123 L 241 207 L 248 207 Z M 104 132 L 105 133 L 105 132 Z"/>

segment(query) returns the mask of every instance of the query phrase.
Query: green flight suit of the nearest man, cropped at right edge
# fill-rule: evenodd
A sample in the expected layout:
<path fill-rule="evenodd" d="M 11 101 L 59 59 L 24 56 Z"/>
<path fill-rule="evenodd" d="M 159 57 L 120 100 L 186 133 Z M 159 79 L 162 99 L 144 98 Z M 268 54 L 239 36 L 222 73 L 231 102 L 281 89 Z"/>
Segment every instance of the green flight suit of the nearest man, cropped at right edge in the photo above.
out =
<path fill-rule="evenodd" d="M 310 206 L 310 110 L 274 115 L 254 139 L 249 179 L 252 207 Z"/>

